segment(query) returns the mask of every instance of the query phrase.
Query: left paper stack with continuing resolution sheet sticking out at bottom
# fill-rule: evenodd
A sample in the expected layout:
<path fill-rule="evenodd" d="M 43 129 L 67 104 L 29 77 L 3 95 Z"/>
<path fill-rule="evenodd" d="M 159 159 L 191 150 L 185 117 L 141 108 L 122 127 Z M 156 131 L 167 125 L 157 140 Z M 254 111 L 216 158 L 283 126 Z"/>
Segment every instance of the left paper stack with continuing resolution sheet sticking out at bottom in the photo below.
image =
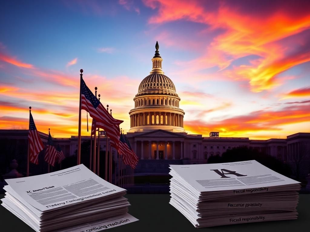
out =
<path fill-rule="evenodd" d="M 6 182 L 2 206 L 38 232 L 100 231 L 137 221 L 127 213 L 126 189 L 82 164 Z"/>

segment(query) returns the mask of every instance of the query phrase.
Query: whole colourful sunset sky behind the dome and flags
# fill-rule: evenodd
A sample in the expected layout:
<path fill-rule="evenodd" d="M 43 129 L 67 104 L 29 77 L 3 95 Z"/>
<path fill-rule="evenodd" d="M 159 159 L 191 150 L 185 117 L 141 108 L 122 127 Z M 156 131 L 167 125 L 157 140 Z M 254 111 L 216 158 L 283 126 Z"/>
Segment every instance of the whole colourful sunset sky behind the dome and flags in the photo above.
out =
<path fill-rule="evenodd" d="M 31 106 L 39 131 L 77 135 L 82 68 L 126 133 L 158 41 L 188 134 L 310 132 L 309 1 L 11 0 L 0 31 L 0 129 L 28 129 Z"/>

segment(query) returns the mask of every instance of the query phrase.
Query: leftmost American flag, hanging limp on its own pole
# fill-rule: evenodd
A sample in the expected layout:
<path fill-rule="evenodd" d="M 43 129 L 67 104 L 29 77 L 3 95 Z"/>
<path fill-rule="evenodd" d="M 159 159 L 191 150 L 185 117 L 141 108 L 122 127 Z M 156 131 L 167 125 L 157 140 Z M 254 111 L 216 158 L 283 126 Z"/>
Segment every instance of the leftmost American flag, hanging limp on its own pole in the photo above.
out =
<path fill-rule="evenodd" d="M 43 143 L 40 138 L 40 135 L 37 131 L 37 127 L 34 124 L 33 117 L 30 112 L 30 118 L 29 118 L 29 134 L 28 134 L 28 140 L 29 140 L 29 160 L 30 162 L 34 164 L 38 164 L 38 156 L 40 151 L 43 150 Z"/>

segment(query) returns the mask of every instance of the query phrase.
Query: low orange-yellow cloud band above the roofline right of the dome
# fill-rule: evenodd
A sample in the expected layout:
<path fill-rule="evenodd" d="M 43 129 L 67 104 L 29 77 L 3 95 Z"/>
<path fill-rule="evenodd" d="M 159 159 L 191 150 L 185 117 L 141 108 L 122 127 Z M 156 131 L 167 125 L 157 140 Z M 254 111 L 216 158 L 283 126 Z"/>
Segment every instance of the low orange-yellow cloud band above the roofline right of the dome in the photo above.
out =
<path fill-rule="evenodd" d="M 219 131 L 222 137 L 250 135 L 254 139 L 259 135 L 260 139 L 269 139 L 270 131 L 278 131 L 277 135 L 282 133 L 281 136 L 286 136 L 286 134 L 283 135 L 282 127 L 294 123 L 309 123 L 310 112 L 307 107 L 310 107 L 309 103 L 302 106 L 285 107 L 279 111 L 259 110 L 219 121 L 184 121 L 184 129 L 204 136 L 209 135 L 211 131 Z M 265 134 L 265 136 L 260 134 Z"/>

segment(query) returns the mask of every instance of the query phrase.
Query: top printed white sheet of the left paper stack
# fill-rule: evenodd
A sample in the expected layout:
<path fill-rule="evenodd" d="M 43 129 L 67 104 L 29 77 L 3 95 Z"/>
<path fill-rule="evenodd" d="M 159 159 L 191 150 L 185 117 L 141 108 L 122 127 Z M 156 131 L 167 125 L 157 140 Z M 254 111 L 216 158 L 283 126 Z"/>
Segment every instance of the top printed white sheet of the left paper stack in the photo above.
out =
<path fill-rule="evenodd" d="M 6 179 L 6 182 L 23 200 L 43 212 L 126 191 L 82 164 L 53 173 Z"/>

